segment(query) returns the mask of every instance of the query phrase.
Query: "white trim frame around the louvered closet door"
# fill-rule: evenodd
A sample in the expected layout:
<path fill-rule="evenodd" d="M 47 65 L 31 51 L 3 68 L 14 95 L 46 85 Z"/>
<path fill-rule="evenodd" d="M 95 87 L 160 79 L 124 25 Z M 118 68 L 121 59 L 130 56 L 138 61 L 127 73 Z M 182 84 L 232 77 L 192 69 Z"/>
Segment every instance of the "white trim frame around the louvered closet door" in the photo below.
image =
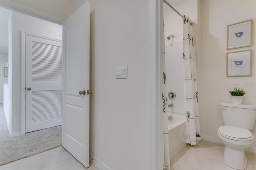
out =
<path fill-rule="evenodd" d="M 42 35 L 36 35 L 33 33 L 28 33 L 28 32 L 23 32 L 20 31 L 20 35 L 21 35 L 21 135 L 25 134 L 25 127 L 26 127 L 26 82 L 25 82 L 25 78 L 26 78 L 26 35 L 30 35 L 33 37 L 38 37 L 38 38 L 43 38 L 43 39 L 48 39 L 48 40 L 52 40 L 52 41 L 58 41 L 62 43 L 62 40 L 60 39 L 53 39 L 53 38 L 49 38 L 49 37 L 45 37 Z M 63 70 L 62 70 L 63 72 Z"/>

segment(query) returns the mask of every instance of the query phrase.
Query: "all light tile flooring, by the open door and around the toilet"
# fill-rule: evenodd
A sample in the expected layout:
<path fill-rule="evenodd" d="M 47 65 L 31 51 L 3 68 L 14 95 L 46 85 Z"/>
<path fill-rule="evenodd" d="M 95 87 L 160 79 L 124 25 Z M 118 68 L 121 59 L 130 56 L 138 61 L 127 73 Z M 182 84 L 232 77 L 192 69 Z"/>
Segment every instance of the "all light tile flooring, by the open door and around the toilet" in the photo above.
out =
<path fill-rule="evenodd" d="M 200 141 L 196 146 L 187 145 L 171 159 L 171 170 L 234 170 L 226 166 L 222 157 L 224 146 Z M 246 152 L 246 170 L 256 170 L 256 154 Z M 28 158 L 0 166 L 0 170 L 99 170 L 93 164 L 84 168 L 68 151 L 58 147 Z"/>

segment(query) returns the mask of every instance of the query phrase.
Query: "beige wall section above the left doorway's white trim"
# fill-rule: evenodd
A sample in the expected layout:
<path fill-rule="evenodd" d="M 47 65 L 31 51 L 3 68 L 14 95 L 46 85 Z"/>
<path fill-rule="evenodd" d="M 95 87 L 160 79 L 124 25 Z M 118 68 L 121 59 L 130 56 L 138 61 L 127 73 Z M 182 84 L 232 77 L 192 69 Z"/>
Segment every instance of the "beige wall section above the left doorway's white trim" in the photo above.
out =
<path fill-rule="evenodd" d="M 72 0 L 12 0 L 19 4 L 57 16 L 62 20 L 72 14 Z"/>

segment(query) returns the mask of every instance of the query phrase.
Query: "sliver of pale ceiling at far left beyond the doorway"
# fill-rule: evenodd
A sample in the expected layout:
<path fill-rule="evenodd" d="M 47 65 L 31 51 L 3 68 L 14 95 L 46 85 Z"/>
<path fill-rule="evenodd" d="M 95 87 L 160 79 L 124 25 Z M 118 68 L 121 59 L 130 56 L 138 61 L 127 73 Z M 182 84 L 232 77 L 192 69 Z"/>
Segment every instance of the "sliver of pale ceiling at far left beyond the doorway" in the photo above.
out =
<path fill-rule="evenodd" d="M 0 53 L 8 54 L 8 20 L 10 10 L 0 7 Z"/>

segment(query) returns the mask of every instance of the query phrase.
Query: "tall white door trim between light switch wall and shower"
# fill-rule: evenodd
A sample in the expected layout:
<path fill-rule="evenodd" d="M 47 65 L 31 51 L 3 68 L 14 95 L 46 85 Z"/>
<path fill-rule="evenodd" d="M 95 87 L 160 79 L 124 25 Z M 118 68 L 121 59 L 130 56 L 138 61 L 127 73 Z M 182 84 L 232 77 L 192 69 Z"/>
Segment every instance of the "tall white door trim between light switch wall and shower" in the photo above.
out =
<path fill-rule="evenodd" d="M 163 168 L 163 127 L 162 127 L 162 34 L 163 34 L 163 1 L 149 0 L 148 7 L 148 61 L 150 98 L 148 99 L 149 113 L 149 160 L 150 170 Z"/>

